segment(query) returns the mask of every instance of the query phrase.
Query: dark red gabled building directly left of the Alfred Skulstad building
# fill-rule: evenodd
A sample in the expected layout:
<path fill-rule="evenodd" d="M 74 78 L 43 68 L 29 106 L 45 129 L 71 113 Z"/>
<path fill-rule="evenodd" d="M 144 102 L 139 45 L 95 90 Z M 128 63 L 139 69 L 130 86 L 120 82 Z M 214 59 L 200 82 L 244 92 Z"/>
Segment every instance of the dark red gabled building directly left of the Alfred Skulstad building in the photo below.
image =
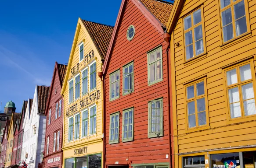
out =
<path fill-rule="evenodd" d="M 45 116 L 47 116 L 44 147 L 44 168 L 61 168 L 62 166 L 62 131 L 64 103 L 61 87 L 67 70 L 66 65 L 55 63 L 50 84 Z"/>

